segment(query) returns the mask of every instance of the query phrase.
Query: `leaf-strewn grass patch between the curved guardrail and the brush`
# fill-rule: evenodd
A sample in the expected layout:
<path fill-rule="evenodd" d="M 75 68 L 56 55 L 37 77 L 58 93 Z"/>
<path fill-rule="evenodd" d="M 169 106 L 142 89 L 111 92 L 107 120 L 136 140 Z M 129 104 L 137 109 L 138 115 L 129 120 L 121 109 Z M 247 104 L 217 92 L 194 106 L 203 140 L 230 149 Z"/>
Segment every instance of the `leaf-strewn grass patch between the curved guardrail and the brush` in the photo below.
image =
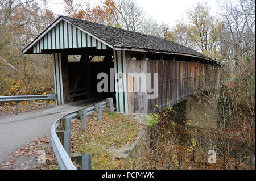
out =
<path fill-rule="evenodd" d="M 122 160 L 117 160 L 109 149 L 131 144 L 137 137 L 141 124 L 131 120 L 131 115 L 103 113 L 88 115 L 87 129 L 81 130 L 81 120 L 72 123 L 72 153 L 92 153 L 92 169 L 119 169 Z"/>

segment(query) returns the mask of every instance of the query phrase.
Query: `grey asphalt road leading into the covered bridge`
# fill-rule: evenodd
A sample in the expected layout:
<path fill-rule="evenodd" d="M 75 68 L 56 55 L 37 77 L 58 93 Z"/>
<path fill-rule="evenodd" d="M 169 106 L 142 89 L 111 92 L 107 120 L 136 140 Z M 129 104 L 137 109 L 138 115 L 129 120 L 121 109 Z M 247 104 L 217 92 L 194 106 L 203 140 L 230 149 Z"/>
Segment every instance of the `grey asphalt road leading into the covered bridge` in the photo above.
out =
<path fill-rule="evenodd" d="M 51 135 L 51 125 L 69 112 L 89 106 L 98 100 L 80 101 L 19 115 L 0 117 L 0 164 L 22 145 Z"/>

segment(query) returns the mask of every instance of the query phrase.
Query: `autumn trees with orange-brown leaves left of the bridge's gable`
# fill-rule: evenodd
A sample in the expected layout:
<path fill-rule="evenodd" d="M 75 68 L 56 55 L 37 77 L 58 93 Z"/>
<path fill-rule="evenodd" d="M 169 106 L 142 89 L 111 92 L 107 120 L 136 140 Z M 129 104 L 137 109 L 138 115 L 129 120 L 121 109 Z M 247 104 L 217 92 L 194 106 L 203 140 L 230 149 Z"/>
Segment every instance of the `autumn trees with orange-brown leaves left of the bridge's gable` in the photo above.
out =
<path fill-rule="evenodd" d="M 55 19 L 51 11 L 45 10 L 44 13 L 39 14 L 40 10 L 41 7 L 36 0 L 0 2 L 1 95 L 8 94 L 8 90 L 16 81 L 21 80 L 27 87 L 33 81 L 34 85 L 38 85 L 36 81 L 40 78 L 42 84 L 43 79 L 52 78 L 52 69 L 46 67 L 52 61 L 49 56 L 35 58 L 32 55 L 22 54 L 24 46 Z M 51 85 L 49 87 L 52 87 L 53 82 L 48 82 Z"/>

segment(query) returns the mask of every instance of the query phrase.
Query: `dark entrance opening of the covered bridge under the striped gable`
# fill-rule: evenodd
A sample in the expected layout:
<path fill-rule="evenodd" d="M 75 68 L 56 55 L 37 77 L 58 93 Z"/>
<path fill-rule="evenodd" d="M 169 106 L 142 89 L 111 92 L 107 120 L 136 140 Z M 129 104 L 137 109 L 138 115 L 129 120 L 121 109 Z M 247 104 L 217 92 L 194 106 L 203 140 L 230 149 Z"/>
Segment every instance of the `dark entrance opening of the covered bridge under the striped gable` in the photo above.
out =
<path fill-rule="evenodd" d="M 115 92 L 113 89 L 111 91 L 110 87 L 110 82 L 115 82 L 114 77 L 110 75 L 110 69 L 114 68 L 113 50 L 92 48 L 66 50 L 53 53 L 53 60 L 57 104 L 80 100 L 103 100 L 110 97 L 115 102 Z M 101 76 L 97 79 L 100 73 L 108 75 L 108 91 L 97 90 L 98 83 L 103 79 Z"/>

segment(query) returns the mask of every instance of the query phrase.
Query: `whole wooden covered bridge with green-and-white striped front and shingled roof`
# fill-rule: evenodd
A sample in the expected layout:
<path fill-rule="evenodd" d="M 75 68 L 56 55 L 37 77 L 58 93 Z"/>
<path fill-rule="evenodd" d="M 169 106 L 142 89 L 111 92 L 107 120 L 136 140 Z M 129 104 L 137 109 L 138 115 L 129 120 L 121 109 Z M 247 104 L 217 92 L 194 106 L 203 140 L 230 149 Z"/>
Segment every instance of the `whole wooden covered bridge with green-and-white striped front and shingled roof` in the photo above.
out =
<path fill-rule="evenodd" d="M 210 81 L 212 72 L 217 77 L 220 66 L 172 41 L 67 16 L 57 18 L 23 53 L 53 55 L 56 104 L 112 96 L 117 112 L 125 113 L 156 112 L 156 104 L 157 111 L 164 110 L 169 106 L 167 98 L 172 105 L 179 103 L 195 87 L 204 90 L 203 82 Z M 110 86 L 109 91 L 98 92 L 101 79 L 97 75 L 102 72 L 108 75 Z M 141 79 L 136 82 L 133 73 Z M 141 73 L 153 83 L 143 83 Z M 218 86 L 217 82 L 209 85 Z M 144 92 L 134 92 L 139 84 Z M 150 91 L 151 87 L 158 92 Z"/>

